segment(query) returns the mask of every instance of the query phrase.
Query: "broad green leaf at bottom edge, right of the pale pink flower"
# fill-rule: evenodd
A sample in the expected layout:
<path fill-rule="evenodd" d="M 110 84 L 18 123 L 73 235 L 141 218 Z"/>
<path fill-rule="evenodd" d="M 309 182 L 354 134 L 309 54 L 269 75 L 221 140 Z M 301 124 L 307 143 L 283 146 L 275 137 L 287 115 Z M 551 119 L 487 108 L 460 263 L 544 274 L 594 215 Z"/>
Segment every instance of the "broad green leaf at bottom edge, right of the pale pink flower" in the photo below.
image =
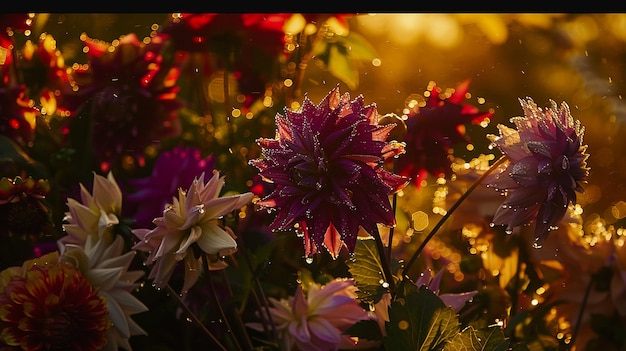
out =
<path fill-rule="evenodd" d="M 459 333 L 459 319 L 439 296 L 421 286 L 391 303 L 385 329 L 387 350 L 441 350 Z"/>

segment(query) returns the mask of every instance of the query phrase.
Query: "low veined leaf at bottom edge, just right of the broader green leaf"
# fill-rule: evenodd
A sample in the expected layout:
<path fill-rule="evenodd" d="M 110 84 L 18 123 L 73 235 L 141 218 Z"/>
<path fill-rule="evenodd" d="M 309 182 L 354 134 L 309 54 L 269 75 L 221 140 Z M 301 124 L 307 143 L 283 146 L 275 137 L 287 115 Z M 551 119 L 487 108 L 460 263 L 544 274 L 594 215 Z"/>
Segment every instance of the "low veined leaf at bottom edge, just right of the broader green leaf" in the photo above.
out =
<path fill-rule="evenodd" d="M 509 341 L 500 326 L 491 325 L 481 329 L 470 326 L 452 338 L 443 351 L 504 351 L 508 347 Z"/>

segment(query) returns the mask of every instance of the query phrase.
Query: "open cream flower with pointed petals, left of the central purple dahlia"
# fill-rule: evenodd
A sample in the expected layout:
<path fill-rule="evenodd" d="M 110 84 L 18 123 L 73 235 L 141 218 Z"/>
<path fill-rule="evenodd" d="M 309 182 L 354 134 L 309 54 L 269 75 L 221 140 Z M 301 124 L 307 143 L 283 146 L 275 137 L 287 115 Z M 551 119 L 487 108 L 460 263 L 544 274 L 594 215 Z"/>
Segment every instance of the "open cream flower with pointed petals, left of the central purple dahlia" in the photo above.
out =
<path fill-rule="evenodd" d="M 165 286 L 170 280 L 176 264 L 185 261 L 183 292 L 187 292 L 200 276 L 199 258 L 190 250 L 193 244 L 218 260 L 211 267 L 220 269 L 225 263 L 219 258 L 233 254 L 237 250 L 234 234 L 222 227 L 219 220 L 225 214 L 240 209 L 252 201 L 251 192 L 220 197 L 224 177 L 214 171 L 209 181 L 204 183 L 204 172 L 195 178 L 184 191 L 179 189 L 178 198 L 163 210 L 163 217 L 153 223 L 156 228 L 134 229 L 139 238 L 134 249 L 149 252 L 147 263 L 152 265 L 148 279 L 154 280 L 156 287 Z"/>

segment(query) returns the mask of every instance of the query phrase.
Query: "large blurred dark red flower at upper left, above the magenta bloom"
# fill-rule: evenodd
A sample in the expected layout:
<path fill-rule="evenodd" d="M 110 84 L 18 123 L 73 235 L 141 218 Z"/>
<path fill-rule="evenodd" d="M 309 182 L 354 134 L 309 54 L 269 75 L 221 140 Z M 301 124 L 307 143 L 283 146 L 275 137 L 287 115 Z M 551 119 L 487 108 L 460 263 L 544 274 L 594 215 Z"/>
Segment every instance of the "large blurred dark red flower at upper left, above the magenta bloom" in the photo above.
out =
<path fill-rule="evenodd" d="M 71 110 L 88 103 L 93 151 L 101 171 L 126 155 L 142 165 L 147 147 L 181 132 L 178 70 L 162 65 L 163 38 L 146 43 L 131 33 L 109 44 L 84 35 L 83 42 L 89 64 L 75 65 L 71 74 L 79 88 L 71 97 Z"/>

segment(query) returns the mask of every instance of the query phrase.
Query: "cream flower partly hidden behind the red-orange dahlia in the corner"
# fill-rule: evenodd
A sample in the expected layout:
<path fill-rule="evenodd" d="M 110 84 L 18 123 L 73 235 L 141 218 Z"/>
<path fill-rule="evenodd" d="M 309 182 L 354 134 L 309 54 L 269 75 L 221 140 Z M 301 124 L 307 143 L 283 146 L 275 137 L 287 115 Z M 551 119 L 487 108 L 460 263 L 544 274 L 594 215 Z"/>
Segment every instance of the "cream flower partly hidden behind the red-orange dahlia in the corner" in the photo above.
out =
<path fill-rule="evenodd" d="M 73 244 L 62 246 L 60 243 L 60 260 L 74 265 L 98 289 L 98 294 L 106 299 L 112 327 L 107 330 L 107 342 L 102 351 L 117 351 L 120 347 L 130 351 L 131 336 L 147 335 L 131 318 L 133 314 L 148 311 L 132 294 L 132 290 L 139 285 L 137 280 L 144 272 L 128 271 L 136 252 L 123 254 L 124 239 L 113 233 L 106 235 L 110 237 L 97 241 L 94 236 L 87 236 L 84 247 Z M 114 240 L 111 239 L 113 236 Z"/>

